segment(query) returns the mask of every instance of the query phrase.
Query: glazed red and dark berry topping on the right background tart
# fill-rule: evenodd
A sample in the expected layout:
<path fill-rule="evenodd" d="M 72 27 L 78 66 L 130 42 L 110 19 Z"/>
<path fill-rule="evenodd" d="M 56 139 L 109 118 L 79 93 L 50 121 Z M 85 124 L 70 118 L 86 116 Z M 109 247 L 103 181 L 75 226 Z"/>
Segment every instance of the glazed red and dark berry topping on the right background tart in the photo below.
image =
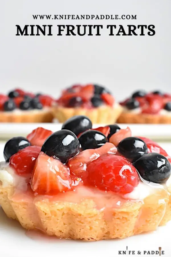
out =
<path fill-rule="evenodd" d="M 120 103 L 127 110 L 140 109 L 143 114 L 159 114 L 162 109 L 171 111 L 171 95 L 160 91 L 146 93 L 136 91 L 133 95 Z"/>

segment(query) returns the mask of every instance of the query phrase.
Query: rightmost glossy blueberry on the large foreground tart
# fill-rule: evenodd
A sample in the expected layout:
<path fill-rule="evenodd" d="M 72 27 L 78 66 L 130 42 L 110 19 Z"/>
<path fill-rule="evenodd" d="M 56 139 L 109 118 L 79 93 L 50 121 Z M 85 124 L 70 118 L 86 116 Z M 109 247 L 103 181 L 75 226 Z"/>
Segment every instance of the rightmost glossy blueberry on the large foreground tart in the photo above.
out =
<path fill-rule="evenodd" d="M 156 152 L 144 154 L 133 165 L 142 178 L 154 183 L 166 182 L 171 174 L 168 159 Z"/>

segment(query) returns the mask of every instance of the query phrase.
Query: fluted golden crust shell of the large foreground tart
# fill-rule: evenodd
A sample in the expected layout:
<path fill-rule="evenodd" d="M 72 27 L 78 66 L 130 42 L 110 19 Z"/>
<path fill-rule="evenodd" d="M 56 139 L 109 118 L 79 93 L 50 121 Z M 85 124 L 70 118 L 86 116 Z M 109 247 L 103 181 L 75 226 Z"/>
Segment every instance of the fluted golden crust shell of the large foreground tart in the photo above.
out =
<path fill-rule="evenodd" d="M 156 230 L 171 219 L 171 198 L 164 189 L 143 201 L 127 200 L 119 208 L 105 212 L 93 199 L 67 202 L 32 194 L 14 194 L 15 187 L 0 185 L 0 204 L 9 218 L 26 229 L 40 229 L 58 238 L 95 241 L 126 238 Z M 65 194 L 65 193 L 64 193 Z M 31 199 L 31 200 L 30 200 Z"/>

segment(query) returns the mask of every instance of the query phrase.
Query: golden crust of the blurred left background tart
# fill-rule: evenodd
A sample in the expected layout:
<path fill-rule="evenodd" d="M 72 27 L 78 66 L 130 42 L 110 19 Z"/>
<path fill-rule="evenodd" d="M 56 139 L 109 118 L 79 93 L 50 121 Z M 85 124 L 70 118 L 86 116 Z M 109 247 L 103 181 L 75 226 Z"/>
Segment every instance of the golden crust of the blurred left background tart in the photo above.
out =
<path fill-rule="evenodd" d="M 0 113 L 0 122 L 10 123 L 47 123 L 52 122 L 53 115 L 51 108 L 47 111 L 23 111 L 21 114 L 16 113 Z"/>

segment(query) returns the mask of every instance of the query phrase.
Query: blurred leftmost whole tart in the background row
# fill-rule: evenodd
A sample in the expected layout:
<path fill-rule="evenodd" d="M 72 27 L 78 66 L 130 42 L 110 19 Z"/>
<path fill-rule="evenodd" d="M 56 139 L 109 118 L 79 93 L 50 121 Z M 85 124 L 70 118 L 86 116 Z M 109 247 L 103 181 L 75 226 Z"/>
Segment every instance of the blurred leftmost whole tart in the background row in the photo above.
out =
<path fill-rule="evenodd" d="M 48 95 L 33 94 L 15 89 L 0 95 L 0 122 L 52 122 L 54 99 Z"/>

